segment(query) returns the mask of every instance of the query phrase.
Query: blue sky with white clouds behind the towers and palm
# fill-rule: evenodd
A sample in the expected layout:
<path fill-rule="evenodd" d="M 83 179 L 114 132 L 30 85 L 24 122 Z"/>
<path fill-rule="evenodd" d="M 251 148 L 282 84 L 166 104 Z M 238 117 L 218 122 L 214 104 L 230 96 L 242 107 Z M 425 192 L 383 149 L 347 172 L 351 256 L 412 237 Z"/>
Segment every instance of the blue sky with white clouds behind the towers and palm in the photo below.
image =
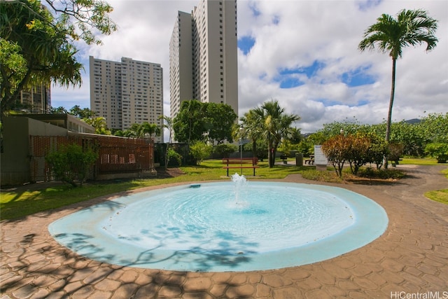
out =
<path fill-rule="evenodd" d="M 164 113 L 169 116 L 169 39 L 177 12 L 190 0 L 109 0 L 118 31 L 102 46 L 78 45 L 80 88 L 52 86 L 52 106 L 90 108 L 89 56 L 160 63 Z M 392 60 L 360 52 L 365 29 L 383 13 L 423 9 L 438 20 L 437 47 L 408 47 L 397 62 L 393 121 L 448 112 L 448 1 L 238 0 L 239 117 L 269 100 L 300 116 L 295 127 L 316 132 L 325 123 L 382 123 L 387 118 Z"/>

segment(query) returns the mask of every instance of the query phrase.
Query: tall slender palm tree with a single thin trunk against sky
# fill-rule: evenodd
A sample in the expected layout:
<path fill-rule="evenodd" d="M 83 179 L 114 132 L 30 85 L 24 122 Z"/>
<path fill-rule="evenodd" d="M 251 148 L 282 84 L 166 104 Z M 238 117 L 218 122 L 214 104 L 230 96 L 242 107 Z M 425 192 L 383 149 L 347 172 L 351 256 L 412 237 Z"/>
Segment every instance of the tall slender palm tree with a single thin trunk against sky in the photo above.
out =
<path fill-rule="evenodd" d="M 358 48 L 362 52 L 365 49 L 374 50 L 375 46 L 382 53 L 389 53 L 392 58 L 392 85 L 391 99 L 386 124 L 386 142 L 391 136 L 391 119 L 393 97 L 395 95 L 395 70 L 398 57 L 402 57 L 402 49 L 407 46 L 416 46 L 426 43 L 426 51 L 432 50 L 437 45 L 435 30 L 437 20 L 428 17 L 428 13 L 422 10 L 403 9 L 393 18 L 383 14 L 377 19 L 377 23 L 365 30 L 364 39 L 360 41 Z M 387 168 L 387 158 L 384 167 Z"/>

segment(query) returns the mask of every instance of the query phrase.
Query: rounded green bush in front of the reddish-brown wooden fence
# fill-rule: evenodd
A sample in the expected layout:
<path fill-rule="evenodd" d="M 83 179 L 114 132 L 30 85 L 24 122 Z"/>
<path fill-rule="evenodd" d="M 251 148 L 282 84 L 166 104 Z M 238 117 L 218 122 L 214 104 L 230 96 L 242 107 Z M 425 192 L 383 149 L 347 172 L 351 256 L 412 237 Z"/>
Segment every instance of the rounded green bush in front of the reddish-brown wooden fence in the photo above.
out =
<path fill-rule="evenodd" d="M 78 186 L 76 181 L 83 186 L 87 172 L 97 158 L 98 154 L 92 148 L 83 150 L 83 147 L 78 144 L 61 146 L 57 151 L 52 151 L 45 156 L 56 179 L 69 183 L 73 187 Z"/>

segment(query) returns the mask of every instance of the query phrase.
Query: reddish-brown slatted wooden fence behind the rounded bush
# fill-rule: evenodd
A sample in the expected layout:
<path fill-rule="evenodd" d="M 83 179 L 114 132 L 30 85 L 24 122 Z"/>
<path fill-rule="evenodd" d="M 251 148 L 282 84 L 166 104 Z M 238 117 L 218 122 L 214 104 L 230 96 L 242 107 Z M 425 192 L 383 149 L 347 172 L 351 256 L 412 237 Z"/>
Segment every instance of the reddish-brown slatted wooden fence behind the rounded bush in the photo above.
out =
<path fill-rule="evenodd" d="M 50 181 L 50 167 L 45 155 L 66 144 L 94 148 L 98 153 L 87 179 L 129 177 L 129 174 L 153 174 L 154 145 L 146 139 L 76 134 L 64 136 L 30 136 L 31 181 Z M 128 174 L 128 175 L 126 175 Z"/>

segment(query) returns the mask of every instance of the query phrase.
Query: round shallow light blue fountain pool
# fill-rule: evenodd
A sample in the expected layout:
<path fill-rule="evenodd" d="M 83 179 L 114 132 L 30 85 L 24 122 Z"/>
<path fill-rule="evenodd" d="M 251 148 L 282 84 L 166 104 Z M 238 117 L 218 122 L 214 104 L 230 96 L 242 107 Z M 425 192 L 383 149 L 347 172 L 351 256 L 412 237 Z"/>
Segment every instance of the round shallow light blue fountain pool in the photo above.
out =
<path fill-rule="evenodd" d="M 163 188 L 103 202 L 49 226 L 60 244 L 106 263 L 179 271 L 291 267 L 352 251 L 388 218 L 342 188 L 250 181 Z"/>

